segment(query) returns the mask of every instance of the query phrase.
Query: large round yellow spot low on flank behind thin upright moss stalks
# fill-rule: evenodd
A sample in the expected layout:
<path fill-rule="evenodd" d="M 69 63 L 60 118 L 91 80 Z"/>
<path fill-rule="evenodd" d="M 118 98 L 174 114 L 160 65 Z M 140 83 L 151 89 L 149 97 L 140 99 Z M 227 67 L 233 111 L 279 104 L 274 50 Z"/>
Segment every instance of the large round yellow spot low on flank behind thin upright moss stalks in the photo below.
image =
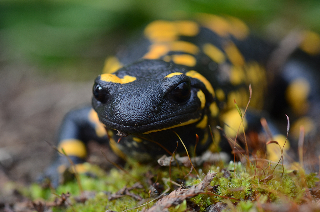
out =
<path fill-rule="evenodd" d="M 241 110 L 241 112 L 242 114 L 244 113 L 243 110 Z M 228 112 L 223 114 L 222 121 L 228 125 L 228 126 L 226 125 L 224 126 L 224 132 L 226 133 L 226 135 L 231 138 L 235 137 L 241 123 L 241 117 L 237 109 L 235 108 L 235 109 L 229 110 Z M 243 121 L 244 121 L 244 130 L 245 130 L 248 125 L 245 117 Z M 240 127 L 240 130 L 239 130 L 239 133 L 241 132 L 243 132 L 242 126 Z"/>

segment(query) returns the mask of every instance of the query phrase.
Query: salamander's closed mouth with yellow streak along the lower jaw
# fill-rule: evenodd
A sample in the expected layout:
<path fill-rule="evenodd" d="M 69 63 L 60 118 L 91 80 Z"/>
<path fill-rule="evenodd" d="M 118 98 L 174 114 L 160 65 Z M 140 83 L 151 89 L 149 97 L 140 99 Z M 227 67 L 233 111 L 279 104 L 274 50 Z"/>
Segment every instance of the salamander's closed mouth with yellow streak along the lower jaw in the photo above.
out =
<path fill-rule="evenodd" d="M 197 111 L 193 113 L 164 118 L 162 120 L 158 120 L 148 124 L 132 124 L 133 126 L 118 124 L 104 117 L 100 117 L 100 121 L 107 127 L 119 130 L 125 134 L 149 134 L 152 132 L 163 131 L 179 126 L 193 124 L 199 121 L 201 117 L 202 111 Z"/>

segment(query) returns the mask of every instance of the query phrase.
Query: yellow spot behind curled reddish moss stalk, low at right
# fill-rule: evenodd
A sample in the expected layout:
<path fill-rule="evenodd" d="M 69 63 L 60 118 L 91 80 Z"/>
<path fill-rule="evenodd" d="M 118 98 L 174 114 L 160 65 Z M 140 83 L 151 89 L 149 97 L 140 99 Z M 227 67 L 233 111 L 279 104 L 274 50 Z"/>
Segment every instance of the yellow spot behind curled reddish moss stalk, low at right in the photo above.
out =
<path fill-rule="evenodd" d="M 285 142 L 285 136 L 281 135 L 281 134 L 278 134 L 278 135 L 273 136 L 273 140 L 275 140 L 275 141 L 277 141 L 279 143 L 281 149 L 280 149 L 279 145 L 276 144 L 276 143 L 268 144 L 267 145 L 268 159 L 272 160 L 272 161 L 279 161 L 279 159 L 281 157 L 281 150 L 282 150 L 282 147 L 283 147 L 284 142 Z M 283 151 L 285 152 L 289 148 L 290 148 L 290 143 L 287 140 L 285 145 L 284 145 Z"/>

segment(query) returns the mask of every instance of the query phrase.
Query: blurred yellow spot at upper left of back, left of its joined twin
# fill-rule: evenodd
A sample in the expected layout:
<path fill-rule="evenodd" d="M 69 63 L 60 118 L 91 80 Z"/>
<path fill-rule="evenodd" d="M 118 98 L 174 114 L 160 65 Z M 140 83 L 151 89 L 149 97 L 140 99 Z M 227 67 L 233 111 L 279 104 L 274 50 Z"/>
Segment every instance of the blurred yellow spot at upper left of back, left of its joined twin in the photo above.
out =
<path fill-rule="evenodd" d="M 178 31 L 171 21 L 156 20 L 144 29 L 144 35 L 152 42 L 167 42 L 178 39 Z"/>

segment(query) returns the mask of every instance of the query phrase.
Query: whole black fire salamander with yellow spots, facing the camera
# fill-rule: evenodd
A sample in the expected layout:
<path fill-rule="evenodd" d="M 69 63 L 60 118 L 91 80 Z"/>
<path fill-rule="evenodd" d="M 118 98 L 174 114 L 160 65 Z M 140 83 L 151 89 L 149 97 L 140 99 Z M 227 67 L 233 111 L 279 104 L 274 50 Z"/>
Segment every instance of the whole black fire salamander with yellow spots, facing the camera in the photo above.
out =
<path fill-rule="evenodd" d="M 235 137 L 241 123 L 234 100 L 245 108 L 249 84 L 252 98 L 244 126 L 256 135 L 249 140 L 262 131 L 260 118 L 266 114 L 261 110 L 285 121 L 286 111 L 298 122 L 292 135 L 299 137 L 300 125 L 311 135 L 316 124 L 309 115 L 317 111 L 314 102 L 319 102 L 320 37 L 310 31 L 300 35 L 296 48 L 271 73 L 267 63 L 272 56 L 277 59 L 275 52 L 283 56 L 281 48 L 250 35 L 239 19 L 201 14 L 195 21 L 153 21 L 136 42 L 106 60 L 94 81 L 92 107 L 66 115 L 58 149 L 81 164 L 89 140 L 109 142 L 120 157 L 141 162 L 173 152 L 177 135 L 187 149 L 198 135 L 197 153 L 210 149 L 212 138 L 224 148 L 228 146 L 224 136 Z M 224 132 L 212 127 L 211 136 L 208 125 L 222 126 Z M 273 139 L 283 145 L 285 136 L 272 124 L 270 129 Z M 268 145 L 269 159 L 279 158 L 277 151 Z M 177 152 L 185 152 L 181 143 Z M 64 170 L 61 158 L 47 170 L 51 178 Z"/>

